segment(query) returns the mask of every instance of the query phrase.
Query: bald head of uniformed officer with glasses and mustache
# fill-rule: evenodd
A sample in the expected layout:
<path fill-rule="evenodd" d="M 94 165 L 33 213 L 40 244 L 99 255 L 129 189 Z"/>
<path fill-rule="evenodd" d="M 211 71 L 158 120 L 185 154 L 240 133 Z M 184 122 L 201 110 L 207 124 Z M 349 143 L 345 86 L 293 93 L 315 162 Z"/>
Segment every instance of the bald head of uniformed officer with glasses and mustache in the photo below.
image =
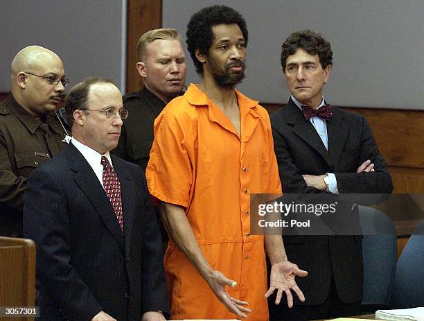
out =
<path fill-rule="evenodd" d="M 12 95 L 31 116 L 37 118 L 58 107 L 64 86 L 49 80 L 65 76 L 58 55 L 42 46 L 27 46 L 17 53 L 10 67 Z"/>

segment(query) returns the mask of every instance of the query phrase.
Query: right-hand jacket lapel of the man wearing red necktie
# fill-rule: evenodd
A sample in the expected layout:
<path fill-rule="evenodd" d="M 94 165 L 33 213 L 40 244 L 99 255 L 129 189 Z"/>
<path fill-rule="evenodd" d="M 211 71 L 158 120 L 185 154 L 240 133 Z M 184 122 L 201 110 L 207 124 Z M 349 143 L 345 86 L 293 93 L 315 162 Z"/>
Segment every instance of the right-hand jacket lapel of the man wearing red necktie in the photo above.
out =
<path fill-rule="evenodd" d="M 114 155 L 111 155 L 112 163 L 116 175 L 118 175 L 119 182 L 121 183 L 121 200 L 124 218 L 124 238 L 125 238 L 125 253 L 127 256 L 130 254 L 130 245 L 132 237 L 132 229 L 134 222 L 134 211 L 135 211 L 135 187 L 132 182 L 130 173 L 125 171 L 125 167 L 122 166 L 120 159 L 117 159 Z M 141 197 L 141 196 L 139 196 Z"/>

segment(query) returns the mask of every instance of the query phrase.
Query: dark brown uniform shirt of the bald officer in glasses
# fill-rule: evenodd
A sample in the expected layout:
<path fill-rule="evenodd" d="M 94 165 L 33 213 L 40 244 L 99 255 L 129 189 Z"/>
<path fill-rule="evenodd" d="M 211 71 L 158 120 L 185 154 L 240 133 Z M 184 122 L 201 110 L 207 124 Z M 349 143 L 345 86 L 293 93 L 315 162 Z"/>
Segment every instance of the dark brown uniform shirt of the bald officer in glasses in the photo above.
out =
<path fill-rule="evenodd" d="M 10 94 L 0 103 L 0 235 L 21 232 L 26 179 L 66 143 L 55 114 L 36 120 Z"/>

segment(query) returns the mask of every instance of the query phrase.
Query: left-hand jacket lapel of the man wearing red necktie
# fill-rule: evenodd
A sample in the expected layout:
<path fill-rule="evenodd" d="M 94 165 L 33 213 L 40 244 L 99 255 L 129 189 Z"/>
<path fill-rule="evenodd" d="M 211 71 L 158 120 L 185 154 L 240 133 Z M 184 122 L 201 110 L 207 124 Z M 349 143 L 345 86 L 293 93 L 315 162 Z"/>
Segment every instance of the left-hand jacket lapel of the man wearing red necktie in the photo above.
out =
<path fill-rule="evenodd" d="M 110 204 L 110 200 L 107 198 L 103 186 L 98 182 L 98 178 L 91 166 L 80 151 L 72 144 L 69 144 L 67 148 L 67 159 L 69 168 L 76 172 L 74 180 L 85 193 L 94 209 L 96 209 L 107 229 L 109 229 L 116 238 L 116 241 L 118 241 L 123 250 L 125 250 L 124 239 L 118 220 L 116 220 L 116 215 Z"/>

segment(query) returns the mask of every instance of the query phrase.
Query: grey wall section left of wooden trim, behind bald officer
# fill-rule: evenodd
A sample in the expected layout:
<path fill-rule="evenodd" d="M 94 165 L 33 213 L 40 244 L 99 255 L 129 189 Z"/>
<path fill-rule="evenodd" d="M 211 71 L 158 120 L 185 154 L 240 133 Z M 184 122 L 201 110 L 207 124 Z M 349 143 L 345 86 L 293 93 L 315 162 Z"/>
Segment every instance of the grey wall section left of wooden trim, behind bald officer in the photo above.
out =
<path fill-rule="evenodd" d="M 10 62 L 25 46 L 58 53 L 71 85 L 111 78 L 125 92 L 126 0 L 0 0 L 0 92 L 10 91 Z"/>

